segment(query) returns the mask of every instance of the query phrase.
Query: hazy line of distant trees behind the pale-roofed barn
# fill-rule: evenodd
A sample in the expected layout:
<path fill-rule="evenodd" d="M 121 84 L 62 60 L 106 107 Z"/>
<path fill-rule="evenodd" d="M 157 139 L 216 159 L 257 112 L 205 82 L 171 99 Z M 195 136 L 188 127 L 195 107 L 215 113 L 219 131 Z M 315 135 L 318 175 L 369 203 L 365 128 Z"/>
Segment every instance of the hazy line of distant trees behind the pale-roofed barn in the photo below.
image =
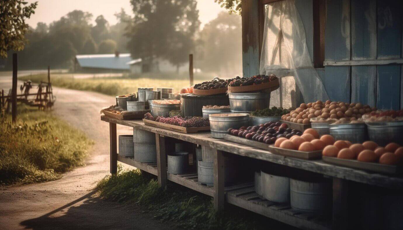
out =
<path fill-rule="evenodd" d="M 116 25 L 104 16 L 74 10 L 47 25 L 37 23 L 19 51 L 19 68 L 71 68 L 77 54 L 129 52 L 133 59 L 168 60 L 175 66 L 195 55 L 195 66 L 209 72 L 241 68 L 241 17 L 221 12 L 200 28 L 195 0 L 131 0 L 133 16 L 121 9 Z M 9 51 L 9 53 L 14 51 Z M 10 58 L 6 68 L 10 69 Z M 230 74 L 229 74 L 230 75 Z"/>

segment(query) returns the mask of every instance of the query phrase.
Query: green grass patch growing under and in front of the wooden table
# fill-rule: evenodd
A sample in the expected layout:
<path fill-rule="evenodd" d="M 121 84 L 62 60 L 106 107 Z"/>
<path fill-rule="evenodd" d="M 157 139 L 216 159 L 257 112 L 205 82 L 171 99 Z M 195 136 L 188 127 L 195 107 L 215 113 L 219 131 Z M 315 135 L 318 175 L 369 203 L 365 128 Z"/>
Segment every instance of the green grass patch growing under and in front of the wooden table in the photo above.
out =
<path fill-rule="evenodd" d="M 118 173 L 106 176 L 96 189 L 102 199 L 139 205 L 154 219 L 169 221 L 180 228 L 285 229 L 283 224 L 233 205 L 216 213 L 212 197 L 175 183 L 160 189 L 155 179 L 146 179 L 138 169 L 122 170 L 120 165 Z"/>

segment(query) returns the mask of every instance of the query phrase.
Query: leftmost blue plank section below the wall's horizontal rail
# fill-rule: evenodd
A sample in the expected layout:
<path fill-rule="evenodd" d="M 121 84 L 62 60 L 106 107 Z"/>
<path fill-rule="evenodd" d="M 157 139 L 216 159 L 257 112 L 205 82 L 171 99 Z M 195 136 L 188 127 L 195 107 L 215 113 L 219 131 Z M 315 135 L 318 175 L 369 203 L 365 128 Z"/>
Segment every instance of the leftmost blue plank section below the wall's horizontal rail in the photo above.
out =
<path fill-rule="evenodd" d="M 331 101 L 350 102 L 350 66 L 325 66 L 323 84 Z"/>

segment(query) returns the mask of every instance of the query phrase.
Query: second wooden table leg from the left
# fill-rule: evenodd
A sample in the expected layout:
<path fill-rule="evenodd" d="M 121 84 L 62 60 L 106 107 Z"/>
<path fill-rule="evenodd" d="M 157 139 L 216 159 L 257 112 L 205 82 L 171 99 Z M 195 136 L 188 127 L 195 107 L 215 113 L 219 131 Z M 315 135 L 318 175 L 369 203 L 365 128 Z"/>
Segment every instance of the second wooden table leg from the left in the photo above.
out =
<path fill-rule="evenodd" d="M 166 151 L 165 151 L 165 137 L 156 133 L 155 134 L 156 147 L 157 147 L 157 176 L 158 185 L 162 188 L 166 186 Z"/>

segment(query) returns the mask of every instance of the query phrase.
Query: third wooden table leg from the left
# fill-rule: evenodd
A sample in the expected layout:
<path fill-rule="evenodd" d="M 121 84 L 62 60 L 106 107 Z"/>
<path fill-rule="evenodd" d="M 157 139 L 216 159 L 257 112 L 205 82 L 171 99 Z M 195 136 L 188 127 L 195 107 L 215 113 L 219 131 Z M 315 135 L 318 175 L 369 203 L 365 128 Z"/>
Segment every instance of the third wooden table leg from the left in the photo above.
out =
<path fill-rule="evenodd" d="M 222 151 L 214 154 L 214 209 L 224 208 L 224 156 Z"/>

